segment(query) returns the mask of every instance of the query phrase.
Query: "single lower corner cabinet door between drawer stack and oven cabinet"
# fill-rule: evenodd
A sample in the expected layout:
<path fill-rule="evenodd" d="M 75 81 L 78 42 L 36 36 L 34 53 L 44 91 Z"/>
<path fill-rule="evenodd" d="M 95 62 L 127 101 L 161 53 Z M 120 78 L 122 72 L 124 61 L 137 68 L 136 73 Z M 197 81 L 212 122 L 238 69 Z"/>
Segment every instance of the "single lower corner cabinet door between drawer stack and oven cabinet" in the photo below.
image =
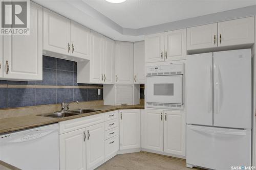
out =
<path fill-rule="evenodd" d="M 140 109 L 119 111 L 120 150 L 140 148 Z"/>

